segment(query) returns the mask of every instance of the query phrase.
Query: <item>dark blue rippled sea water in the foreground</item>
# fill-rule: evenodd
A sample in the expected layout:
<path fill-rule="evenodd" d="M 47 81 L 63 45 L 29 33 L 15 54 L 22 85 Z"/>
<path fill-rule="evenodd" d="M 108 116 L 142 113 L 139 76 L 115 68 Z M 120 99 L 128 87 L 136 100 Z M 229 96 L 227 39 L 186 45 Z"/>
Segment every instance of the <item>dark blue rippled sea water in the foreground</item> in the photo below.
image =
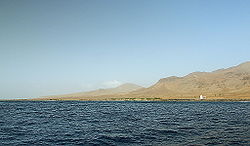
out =
<path fill-rule="evenodd" d="M 250 145 L 250 103 L 0 102 L 0 145 Z"/>

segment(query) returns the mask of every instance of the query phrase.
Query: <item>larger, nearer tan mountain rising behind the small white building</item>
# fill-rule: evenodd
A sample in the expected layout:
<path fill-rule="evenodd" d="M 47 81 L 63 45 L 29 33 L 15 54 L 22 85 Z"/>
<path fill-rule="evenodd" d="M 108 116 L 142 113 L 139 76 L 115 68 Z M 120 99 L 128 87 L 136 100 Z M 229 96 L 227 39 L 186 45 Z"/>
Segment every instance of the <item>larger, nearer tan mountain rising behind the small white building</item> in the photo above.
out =
<path fill-rule="evenodd" d="M 213 72 L 160 79 L 155 85 L 130 93 L 133 97 L 250 97 L 250 62 Z"/>

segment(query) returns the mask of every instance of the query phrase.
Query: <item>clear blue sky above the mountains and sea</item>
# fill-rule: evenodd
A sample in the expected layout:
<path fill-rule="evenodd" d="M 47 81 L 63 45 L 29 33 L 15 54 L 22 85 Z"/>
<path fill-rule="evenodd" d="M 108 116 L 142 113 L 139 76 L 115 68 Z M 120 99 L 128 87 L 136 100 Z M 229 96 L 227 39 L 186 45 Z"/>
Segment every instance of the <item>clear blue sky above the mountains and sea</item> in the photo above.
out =
<path fill-rule="evenodd" d="M 0 0 L 0 99 L 144 87 L 250 60 L 249 0 Z"/>

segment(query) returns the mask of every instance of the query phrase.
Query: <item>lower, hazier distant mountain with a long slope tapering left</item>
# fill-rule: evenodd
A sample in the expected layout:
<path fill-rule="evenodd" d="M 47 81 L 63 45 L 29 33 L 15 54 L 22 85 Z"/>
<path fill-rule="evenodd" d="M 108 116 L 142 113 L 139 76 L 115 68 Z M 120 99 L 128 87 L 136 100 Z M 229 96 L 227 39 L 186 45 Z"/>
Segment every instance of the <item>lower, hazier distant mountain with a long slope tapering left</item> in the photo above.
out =
<path fill-rule="evenodd" d="M 95 97 L 95 96 L 103 96 L 103 95 L 123 95 L 138 89 L 142 89 L 143 87 L 138 86 L 132 83 L 126 83 L 120 85 L 116 88 L 109 88 L 109 89 L 98 89 L 89 92 L 78 92 L 72 94 L 64 94 L 64 95 L 54 95 L 54 96 L 47 96 L 49 98 L 74 98 L 74 97 Z"/>

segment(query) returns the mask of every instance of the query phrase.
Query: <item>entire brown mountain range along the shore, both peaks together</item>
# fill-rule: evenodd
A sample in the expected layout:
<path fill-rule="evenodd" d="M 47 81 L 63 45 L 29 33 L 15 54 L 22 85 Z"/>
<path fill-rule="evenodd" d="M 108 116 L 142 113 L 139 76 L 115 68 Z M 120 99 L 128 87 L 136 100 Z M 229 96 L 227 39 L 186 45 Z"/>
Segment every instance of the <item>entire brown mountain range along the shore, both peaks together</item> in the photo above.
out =
<path fill-rule="evenodd" d="M 99 89 L 42 99 L 60 100 L 169 100 L 198 99 L 250 99 L 250 62 L 213 72 L 193 72 L 183 77 L 160 79 L 149 88 L 124 84 L 116 88 Z"/>

